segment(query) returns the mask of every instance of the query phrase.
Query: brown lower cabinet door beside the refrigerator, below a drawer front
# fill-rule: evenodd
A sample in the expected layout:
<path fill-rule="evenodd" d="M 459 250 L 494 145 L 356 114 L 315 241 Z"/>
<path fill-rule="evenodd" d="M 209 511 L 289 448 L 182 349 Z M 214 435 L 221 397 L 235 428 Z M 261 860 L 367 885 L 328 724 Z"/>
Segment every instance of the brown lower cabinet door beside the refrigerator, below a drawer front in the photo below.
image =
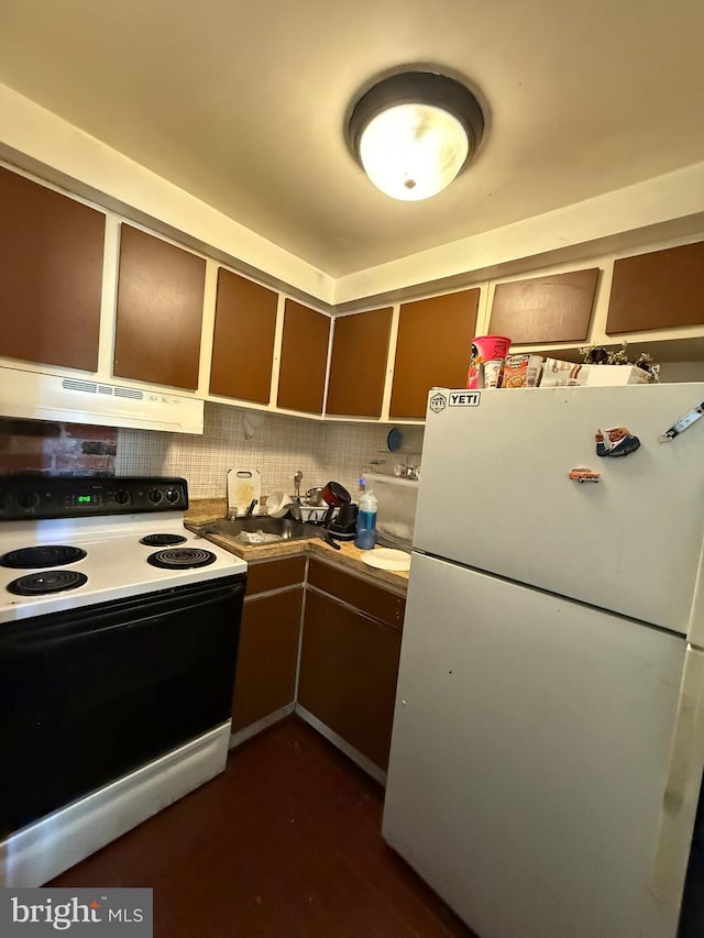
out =
<path fill-rule="evenodd" d="M 400 634 L 308 591 L 298 702 L 383 771 L 388 764 Z"/>

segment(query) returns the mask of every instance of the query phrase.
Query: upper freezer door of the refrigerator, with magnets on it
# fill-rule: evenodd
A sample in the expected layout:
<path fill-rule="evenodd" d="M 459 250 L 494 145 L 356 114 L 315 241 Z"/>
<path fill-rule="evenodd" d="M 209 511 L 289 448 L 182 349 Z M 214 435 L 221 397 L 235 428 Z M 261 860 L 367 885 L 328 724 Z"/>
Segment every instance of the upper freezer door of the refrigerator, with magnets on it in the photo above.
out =
<path fill-rule="evenodd" d="M 479 406 L 441 394 L 448 404 L 426 424 L 416 548 L 686 633 L 704 421 L 659 438 L 704 385 L 484 390 Z M 640 448 L 600 457 L 596 430 L 616 424 Z M 601 479 L 569 478 L 575 467 Z"/>

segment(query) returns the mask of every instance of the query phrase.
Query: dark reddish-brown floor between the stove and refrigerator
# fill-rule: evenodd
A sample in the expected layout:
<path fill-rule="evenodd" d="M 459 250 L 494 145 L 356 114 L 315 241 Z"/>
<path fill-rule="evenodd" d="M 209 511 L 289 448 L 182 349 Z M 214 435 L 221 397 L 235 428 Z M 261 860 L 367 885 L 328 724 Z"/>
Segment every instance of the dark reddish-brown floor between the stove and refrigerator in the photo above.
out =
<path fill-rule="evenodd" d="M 50 885 L 151 886 L 155 938 L 475 938 L 385 845 L 382 806 L 289 717 Z"/>

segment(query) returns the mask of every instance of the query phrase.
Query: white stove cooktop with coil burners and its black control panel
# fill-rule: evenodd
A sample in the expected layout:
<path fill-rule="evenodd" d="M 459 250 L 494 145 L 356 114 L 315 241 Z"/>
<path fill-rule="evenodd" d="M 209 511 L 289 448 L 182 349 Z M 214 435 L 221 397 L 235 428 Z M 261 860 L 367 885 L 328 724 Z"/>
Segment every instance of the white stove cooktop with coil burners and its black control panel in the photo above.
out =
<path fill-rule="evenodd" d="M 0 622 L 244 573 L 187 507 L 170 477 L 0 478 Z"/>

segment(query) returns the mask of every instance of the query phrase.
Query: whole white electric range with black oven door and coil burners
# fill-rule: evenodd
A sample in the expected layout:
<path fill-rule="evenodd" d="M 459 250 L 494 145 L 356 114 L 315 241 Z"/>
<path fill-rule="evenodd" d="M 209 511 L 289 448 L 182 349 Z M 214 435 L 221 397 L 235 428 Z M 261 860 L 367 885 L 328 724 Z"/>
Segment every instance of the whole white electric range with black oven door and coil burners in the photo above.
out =
<path fill-rule="evenodd" d="M 185 479 L 0 477 L 0 885 L 41 885 L 226 765 L 246 563 Z"/>

